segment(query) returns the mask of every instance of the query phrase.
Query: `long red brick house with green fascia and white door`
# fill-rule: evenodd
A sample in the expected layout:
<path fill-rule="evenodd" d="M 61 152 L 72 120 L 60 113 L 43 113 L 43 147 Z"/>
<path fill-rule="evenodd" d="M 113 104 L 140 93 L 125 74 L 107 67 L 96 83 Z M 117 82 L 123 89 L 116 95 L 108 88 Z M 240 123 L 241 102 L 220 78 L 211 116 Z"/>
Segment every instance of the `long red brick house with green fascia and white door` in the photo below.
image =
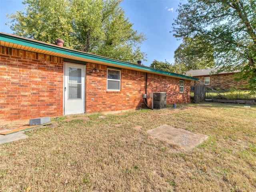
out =
<path fill-rule="evenodd" d="M 190 102 L 196 78 L 0 33 L 0 124 L 4 121 Z"/>

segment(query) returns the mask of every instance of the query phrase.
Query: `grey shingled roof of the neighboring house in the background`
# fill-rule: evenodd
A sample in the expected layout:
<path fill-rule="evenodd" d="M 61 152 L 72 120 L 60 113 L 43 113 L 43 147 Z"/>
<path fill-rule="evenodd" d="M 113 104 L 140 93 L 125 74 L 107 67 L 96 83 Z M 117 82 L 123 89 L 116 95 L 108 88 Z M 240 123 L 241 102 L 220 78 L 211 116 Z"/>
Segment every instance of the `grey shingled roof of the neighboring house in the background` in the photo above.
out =
<path fill-rule="evenodd" d="M 189 71 L 186 71 L 186 76 L 192 76 L 192 77 L 209 76 L 209 75 L 212 75 L 212 74 L 216 74 L 216 72 L 219 68 L 220 67 L 189 70 Z M 235 73 L 235 72 L 239 72 L 239 71 L 233 71 L 233 72 L 222 71 L 222 72 L 219 72 L 218 74 L 232 74 L 232 73 Z"/>

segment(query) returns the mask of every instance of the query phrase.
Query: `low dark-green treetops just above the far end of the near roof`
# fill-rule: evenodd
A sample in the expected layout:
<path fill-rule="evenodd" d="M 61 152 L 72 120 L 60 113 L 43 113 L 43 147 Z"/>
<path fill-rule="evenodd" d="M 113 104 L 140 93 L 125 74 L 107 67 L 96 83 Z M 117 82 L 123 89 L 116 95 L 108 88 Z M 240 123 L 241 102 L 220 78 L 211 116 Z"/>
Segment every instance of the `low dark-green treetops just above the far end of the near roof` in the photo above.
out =
<path fill-rule="evenodd" d="M 170 64 L 166 60 L 165 62 L 154 60 L 152 64 L 150 64 L 150 67 L 178 74 L 184 74 L 185 71 L 183 66 L 178 64 Z"/>

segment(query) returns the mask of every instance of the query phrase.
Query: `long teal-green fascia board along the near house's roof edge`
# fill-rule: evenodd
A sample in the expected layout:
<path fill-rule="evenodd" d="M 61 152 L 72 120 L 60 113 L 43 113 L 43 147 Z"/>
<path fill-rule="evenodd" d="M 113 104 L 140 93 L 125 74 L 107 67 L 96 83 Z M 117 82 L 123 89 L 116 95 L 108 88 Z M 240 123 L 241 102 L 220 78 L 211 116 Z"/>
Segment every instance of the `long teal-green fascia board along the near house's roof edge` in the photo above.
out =
<path fill-rule="evenodd" d="M 177 78 L 198 80 L 197 78 L 190 77 L 190 76 L 171 73 L 171 72 L 167 72 L 167 71 L 163 71 L 163 70 L 159 70 L 159 69 L 155 69 L 155 68 L 150 68 L 150 67 L 147 67 L 147 66 L 132 64 L 132 63 L 129 63 L 129 62 L 124 62 L 124 61 L 120 61 L 120 60 L 116 60 L 116 59 L 112 59 L 112 58 L 106 58 L 106 57 L 103 57 L 103 56 L 93 55 L 93 54 L 89 54 L 89 53 L 86 53 L 86 52 L 80 52 L 80 51 L 77 51 L 77 50 L 52 46 L 50 44 L 46 44 L 46 43 L 43 43 L 43 42 L 33 41 L 33 40 L 30 40 L 30 39 L 26 39 L 26 38 L 19 38 L 17 36 L 13 36 L 13 35 L 0 33 L 0 40 L 5 41 L 5 42 L 14 43 L 14 44 L 20 44 L 20 45 L 23 45 L 23 46 L 29 46 L 29 47 L 33 47 L 33 48 L 42 49 L 42 50 L 52 51 L 52 52 L 56 52 L 56 53 L 76 56 L 76 57 L 80 57 L 80 58 L 86 58 L 86 59 L 96 60 L 96 61 L 100 61 L 100 62 L 107 62 L 107 63 L 111 63 L 111 64 L 116 64 L 116 65 L 119 65 L 119 66 L 132 67 L 134 69 L 145 70 L 145 71 L 148 71 L 148 72 L 154 72 L 154 73 L 159 73 L 159 74 L 175 76 Z"/>

